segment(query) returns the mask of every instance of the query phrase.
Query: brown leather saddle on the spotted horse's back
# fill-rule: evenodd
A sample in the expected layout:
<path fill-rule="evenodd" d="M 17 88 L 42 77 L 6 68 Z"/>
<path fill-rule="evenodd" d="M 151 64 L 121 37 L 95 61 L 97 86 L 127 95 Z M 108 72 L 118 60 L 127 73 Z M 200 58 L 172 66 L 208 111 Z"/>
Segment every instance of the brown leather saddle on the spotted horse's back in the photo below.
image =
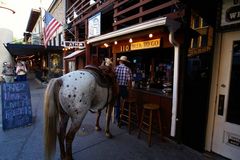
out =
<path fill-rule="evenodd" d="M 96 65 L 86 65 L 84 67 L 85 70 L 87 70 L 89 73 L 91 73 L 99 86 L 110 88 L 113 86 L 115 81 L 115 73 L 109 66 L 96 66 Z"/>

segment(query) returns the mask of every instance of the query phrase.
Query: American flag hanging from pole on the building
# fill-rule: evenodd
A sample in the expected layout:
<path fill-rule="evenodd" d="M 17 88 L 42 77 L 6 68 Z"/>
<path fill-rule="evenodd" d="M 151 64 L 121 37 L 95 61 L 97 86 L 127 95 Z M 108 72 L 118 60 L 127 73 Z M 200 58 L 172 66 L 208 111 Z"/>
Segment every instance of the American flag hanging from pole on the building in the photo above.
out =
<path fill-rule="evenodd" d="M 44 45 L 47 47 L 49 39 L 52 37 L 54 32 L 62 25 L 59 23 L 49 12 L 45 11 L 44 21 Z"/>

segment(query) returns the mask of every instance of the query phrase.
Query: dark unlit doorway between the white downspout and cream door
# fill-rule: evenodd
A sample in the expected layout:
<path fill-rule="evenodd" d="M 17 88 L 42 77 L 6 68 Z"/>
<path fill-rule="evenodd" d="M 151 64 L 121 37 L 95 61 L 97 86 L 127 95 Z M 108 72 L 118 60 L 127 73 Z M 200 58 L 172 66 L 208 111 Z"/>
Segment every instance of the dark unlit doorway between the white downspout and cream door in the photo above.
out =
<path fill-rule="evenodd" d="M 183 144 L 204 151 L 212 56 L 210 52 L 187 58 L 182 109 Z"/>

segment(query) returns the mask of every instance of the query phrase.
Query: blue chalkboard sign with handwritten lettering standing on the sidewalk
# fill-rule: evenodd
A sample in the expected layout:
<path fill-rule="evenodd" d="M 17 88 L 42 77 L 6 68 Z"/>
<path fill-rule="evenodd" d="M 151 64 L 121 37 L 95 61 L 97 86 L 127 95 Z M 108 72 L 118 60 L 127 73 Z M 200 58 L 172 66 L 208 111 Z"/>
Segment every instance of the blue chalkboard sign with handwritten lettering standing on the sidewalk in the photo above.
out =
<path fill-rule="evenodd" d="M 3 83 L 1 86 L 3 130 L 30 125 L 32 107 L 28 82 Z"/>

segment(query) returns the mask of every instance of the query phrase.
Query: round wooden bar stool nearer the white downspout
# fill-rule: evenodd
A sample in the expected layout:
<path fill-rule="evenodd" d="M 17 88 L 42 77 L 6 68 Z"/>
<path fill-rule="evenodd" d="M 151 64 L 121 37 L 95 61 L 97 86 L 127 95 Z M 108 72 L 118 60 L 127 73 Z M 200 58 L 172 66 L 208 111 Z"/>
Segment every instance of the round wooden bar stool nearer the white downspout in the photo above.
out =
<path fill-rule="evenodd" d="M 160 138 L 162 138 L 162 124 L 161 124 L 161 118 L 160 118 L 160 106 L 158 104 L 144 104 L 143 110 L 142 110 L 142 117 L 140 121 L 139 126 L 139 132 L 138 132 L 138 138 L 140 138 L 141 132 L 144 132 L 148 135 L 148 146 L 151 146 L 152 141 L 152 131 L 153 131 L 153 115 L 157 116 L 157 123 L 159 127 L 159 135 Z"/>

